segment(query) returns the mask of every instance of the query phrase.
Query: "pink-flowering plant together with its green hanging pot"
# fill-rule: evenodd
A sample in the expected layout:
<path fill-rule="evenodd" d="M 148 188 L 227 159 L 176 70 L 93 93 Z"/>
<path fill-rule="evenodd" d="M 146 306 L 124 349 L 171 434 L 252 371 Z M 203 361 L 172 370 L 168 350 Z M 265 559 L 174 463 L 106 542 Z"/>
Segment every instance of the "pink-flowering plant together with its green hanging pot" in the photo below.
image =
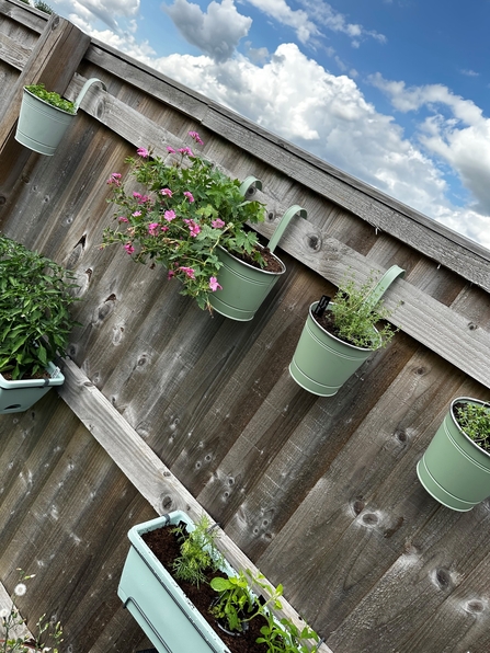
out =
<path fill-rule="evenodd" d="M 203 144 L 196 131 L 189 134 L 196 146 Z M 139 148 L 137 158 L 126 160 L 138 190 L 126 190 L 122 175 L 111 174 L 116 227 L 104 231 L 102 247 L 119 243 L 135 261 L 163 265 L 169 279 L 182 283 L 181 294 L 202 309 L 233 320 L 253 319 L 285 272 L 273 254 L 276 242 L 263 248 L 244 227 L 264 217 L 261 203 L 244 198 L 258 180 L 240 184 L 189 147 L 167 149 L 166 159 Z M 298 211 L 304 209 L 288 209 L 274 236 Z"/>

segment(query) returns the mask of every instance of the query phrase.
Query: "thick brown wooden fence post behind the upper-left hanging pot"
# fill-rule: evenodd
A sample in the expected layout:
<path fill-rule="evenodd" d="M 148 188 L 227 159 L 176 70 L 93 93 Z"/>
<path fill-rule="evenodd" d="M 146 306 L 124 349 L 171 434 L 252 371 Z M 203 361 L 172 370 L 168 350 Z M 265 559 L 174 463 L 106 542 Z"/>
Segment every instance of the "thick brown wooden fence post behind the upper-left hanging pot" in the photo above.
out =
<path fill-rule="evenodd" d="M 15 127 L 25 84 L 43 82 L 49 91 L 62 94 L 89 45 L 90 36 L 69 21 L 54 14 L 34 46 L 0 119 L 0 226 L 14 196 L 22 170 L 33 152 L 15 139 Z M 38 157 L 39 154 L 34 154 Z"/>

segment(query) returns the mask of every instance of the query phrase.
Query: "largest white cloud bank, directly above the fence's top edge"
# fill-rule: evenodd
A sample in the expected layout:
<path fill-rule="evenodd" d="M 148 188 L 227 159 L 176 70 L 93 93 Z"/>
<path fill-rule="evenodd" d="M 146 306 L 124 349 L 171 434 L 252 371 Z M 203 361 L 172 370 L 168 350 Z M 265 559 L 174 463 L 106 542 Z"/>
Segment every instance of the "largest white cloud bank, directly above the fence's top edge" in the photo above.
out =
<path fill-rule="evenodd" d="M 244 57 L 217 65 L 208 57 L 189 55 L 172 55 L 156 65 L 190 88 L 490 247 L 488 214 L 478 206 L 453 206 L 436 162 L 403 136 L 391 116 L 378 113 L 366 102 L 352 79 L 329 73 L 296 45 L 278 46 L 262 67 Z M 399 100 L 417 105 L 415 98 L 417 93 Z M 459 115 L 468 119 L 478 115 L 475 106 L 457 99 L 453 101 Z M 438 126 L 432 125 L 432 128 L 435 129 L 432 138 L 437 138 Z M 452 146 L 454 153 L 457 152 L 456 136 Z M 432 150 L 435 151 L 435 144 Z M 461 154 L 460 167 L 463 159 Z M 468 168 L 471 161 L 478 168 L 470 156 Z M 474 172 L 472 180 L 476 179 Z"/>

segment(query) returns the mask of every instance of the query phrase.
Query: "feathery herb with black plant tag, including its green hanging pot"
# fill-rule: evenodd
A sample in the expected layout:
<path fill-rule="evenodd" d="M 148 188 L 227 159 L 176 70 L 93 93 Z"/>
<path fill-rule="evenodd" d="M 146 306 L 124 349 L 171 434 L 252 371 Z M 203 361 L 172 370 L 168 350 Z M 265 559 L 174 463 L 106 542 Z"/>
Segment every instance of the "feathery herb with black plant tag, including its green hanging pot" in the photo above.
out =
<path fill-rule="evenodd" d="M 379 303 L 385 290 L 404 271 L 390 267 L 374 285 L 373 277 L 356 288 L 342 284 L 334 298 L 323 297 L 309 307 L 308 319 L 296 346 L 289 374 L 308 392 L 337 394 L 371 354 L 389 342 L 395 331 L 376 324 L 388 317 Z"/>

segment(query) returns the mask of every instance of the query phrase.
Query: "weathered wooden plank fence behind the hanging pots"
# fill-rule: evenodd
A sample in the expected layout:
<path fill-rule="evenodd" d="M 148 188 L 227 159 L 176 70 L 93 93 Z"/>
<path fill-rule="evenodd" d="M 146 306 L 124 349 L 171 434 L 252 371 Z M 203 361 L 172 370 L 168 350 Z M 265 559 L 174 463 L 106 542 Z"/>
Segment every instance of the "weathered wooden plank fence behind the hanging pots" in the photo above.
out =
<path fill-rule="evenodd" d="M 89 91 L 54 157 L 16 144 L 24 83 L 73 99 L 90 77 L 107 90 Z M 126 531 L 201 504 L 324 651 L 488 653 L 490 504 L 442 507 L 415 465 L 453 398 L 490 399 L 489 252 L 14 0 L 0 0 L 0 228 L 81 286 L 67 382 L 0 420 L 0 580 L 11 591 L 16 568 L 36 573 L 20 602 L 30 626 L 56 616 L 68 653 L 144 648 L 116 596 Z M 190 129 L 231 175 L 263 181 L 261 237 L 289 205 L 308 211 L 248 323 L 99 249 L 109 175 Z M 386 295 L 394 341 L 338 396 L 300 389 L 287 368 L 308 306 L 350 268 L 362 280 L 392 264 L 407 271 Z"/>

